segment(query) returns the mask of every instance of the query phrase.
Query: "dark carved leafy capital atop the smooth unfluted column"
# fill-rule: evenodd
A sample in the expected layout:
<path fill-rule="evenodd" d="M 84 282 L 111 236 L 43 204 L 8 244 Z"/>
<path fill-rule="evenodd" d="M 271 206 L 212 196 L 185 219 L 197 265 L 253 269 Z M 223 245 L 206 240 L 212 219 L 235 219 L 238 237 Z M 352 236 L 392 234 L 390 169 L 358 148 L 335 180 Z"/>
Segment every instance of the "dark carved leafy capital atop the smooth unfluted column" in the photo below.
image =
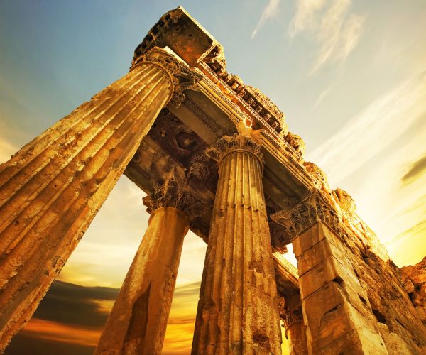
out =
<path fill-rule="evenodd" d="M 160 207 L 175 207 L 184 212 L 190 222 L 206 209 L 202 199 L 179 177 L 176 168 L 170 171 L 163 185 L 157 185 L 151 195 L 143 197 L 143 204 L 148 207 L 148 213 Z"/>

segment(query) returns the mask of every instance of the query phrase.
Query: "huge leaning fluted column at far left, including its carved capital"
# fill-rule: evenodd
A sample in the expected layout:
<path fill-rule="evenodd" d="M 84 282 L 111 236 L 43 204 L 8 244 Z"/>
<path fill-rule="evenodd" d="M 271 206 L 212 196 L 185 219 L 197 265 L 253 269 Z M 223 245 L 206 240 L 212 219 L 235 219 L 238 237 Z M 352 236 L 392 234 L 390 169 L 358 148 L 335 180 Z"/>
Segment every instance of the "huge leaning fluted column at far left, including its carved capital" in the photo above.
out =
<path fill-rule="evenodd" d="M 0 352 L 33 315 L 160 109 L 197 80 L 153 48 L 0 165 Z"/>

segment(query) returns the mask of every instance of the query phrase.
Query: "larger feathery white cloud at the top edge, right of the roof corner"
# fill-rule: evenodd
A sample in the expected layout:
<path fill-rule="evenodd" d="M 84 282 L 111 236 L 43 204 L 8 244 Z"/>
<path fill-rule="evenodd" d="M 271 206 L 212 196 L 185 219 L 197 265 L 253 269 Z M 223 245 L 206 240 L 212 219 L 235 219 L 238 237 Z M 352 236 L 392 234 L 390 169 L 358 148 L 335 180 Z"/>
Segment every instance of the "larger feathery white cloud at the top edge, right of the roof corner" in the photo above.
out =
<path fill-rule="evenodd" d="M 310 74 L 327 62 L 342 62 L 356 47 L 366 16 L 349 13 L 351 0 L 297 0 L 289 35 L 306 32 L 318 47 Z"/>

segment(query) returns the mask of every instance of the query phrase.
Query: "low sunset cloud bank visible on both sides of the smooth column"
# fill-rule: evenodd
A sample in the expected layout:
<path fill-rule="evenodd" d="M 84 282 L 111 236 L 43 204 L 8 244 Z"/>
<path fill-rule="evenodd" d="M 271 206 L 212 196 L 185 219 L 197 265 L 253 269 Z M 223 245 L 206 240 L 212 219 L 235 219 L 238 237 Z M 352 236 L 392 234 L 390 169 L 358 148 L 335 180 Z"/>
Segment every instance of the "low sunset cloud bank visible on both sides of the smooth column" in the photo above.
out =
<path fill-rule="evenodd" d="M 200 282 L 175 288 L 163 354 L 190 352 L 199 293 Z M 118 288 L 55 281 L 6 355 L 92 354 L 118 294 Z"/>

